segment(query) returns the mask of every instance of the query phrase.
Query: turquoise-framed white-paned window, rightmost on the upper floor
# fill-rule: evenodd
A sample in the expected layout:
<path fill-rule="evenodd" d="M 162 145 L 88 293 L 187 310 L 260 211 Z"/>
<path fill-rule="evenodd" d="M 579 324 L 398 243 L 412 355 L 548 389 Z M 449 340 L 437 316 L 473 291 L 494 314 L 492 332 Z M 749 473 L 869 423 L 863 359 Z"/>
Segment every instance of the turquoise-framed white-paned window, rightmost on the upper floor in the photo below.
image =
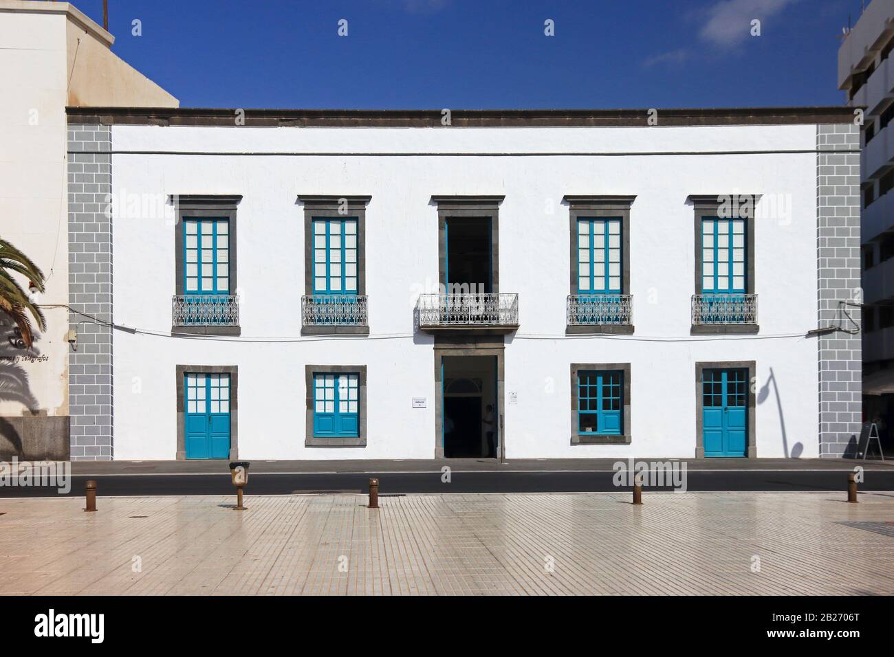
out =
<path fill-rule="evenodd" d="M 702 293 L 746 292 L 745 219 L 702 219 Z"/>

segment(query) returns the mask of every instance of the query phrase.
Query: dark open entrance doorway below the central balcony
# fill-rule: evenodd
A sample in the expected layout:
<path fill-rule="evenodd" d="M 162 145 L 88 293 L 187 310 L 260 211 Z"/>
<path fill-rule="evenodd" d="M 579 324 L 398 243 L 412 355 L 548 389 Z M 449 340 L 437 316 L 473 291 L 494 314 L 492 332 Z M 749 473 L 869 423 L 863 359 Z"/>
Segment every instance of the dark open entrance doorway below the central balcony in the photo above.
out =
<path fill-rule="evenodd" d="M 442 367 L 444 457 L 496 458 L 496 357 L 445 356 Z"/>

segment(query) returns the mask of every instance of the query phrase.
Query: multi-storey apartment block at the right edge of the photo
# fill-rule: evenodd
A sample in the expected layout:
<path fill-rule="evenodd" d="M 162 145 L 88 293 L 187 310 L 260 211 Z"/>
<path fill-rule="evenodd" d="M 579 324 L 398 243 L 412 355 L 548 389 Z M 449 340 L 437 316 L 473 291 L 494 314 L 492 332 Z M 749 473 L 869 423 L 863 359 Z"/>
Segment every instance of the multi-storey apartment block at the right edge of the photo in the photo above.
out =
<path fill-rule="evenodd" d="M 894 426 L 894 0 L 873 0 L 839 49 L 839 88 L 862 108 L 864 404 Z"/>

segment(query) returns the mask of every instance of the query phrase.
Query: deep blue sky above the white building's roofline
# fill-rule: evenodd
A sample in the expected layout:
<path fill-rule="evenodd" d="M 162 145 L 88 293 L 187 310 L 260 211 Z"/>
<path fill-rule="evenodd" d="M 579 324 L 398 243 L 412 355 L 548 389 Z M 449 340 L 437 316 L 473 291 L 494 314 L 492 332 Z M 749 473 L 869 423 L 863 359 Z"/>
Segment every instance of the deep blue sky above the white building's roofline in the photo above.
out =
<path fill-rule="evenodd" d="M 102 24 L 102 0 L 74 4 Z M 860 0 L 109 5 L 114 52 L 203 107 L 841 105 L 837 37 L 860 14 Z"/>

